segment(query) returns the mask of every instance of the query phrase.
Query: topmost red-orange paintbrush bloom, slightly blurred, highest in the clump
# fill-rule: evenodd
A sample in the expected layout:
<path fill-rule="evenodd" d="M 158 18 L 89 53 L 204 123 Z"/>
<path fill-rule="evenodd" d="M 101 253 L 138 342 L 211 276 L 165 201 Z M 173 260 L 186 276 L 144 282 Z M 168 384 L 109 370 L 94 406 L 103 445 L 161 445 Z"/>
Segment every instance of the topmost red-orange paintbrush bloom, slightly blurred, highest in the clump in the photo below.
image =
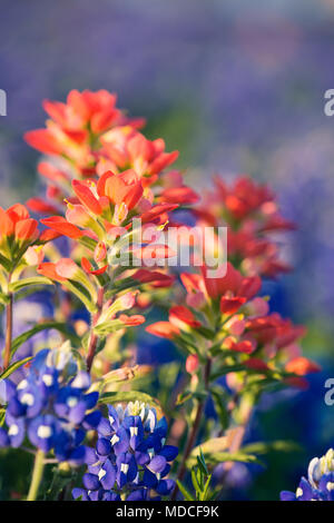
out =
<path fill-rule="evenodd" d="M 70 160 L 69 171 L 73 166 L 79 177 L 94 176 L 95 164 L 101 150 L 100 136 L 111 128 L 127 126 L 136 130 L 143 119 L 129 119 L 116 107 L 116 95 L 104 89 L 69 92 L 66 102 L 43 102 L 48 116 L 46 129 L 36 129 L 24 135 L 26 141 L 46 155 L 62 156 Z M 94 146 L 92 146 L 94 144 Z M 43 169 L 42 176 L 52 182 L 67 181 L 63 172 Z M 67 174 L 65 174 L 68 178 Z M 65 195 L 66 196 L 66 195 Z"/>

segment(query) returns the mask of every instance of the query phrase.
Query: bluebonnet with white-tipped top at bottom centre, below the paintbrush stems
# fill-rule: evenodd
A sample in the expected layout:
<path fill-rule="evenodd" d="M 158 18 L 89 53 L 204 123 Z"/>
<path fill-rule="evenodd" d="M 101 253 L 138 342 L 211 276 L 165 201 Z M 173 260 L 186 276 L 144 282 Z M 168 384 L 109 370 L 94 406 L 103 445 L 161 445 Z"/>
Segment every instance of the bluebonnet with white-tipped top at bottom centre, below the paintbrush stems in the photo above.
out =
<path fill-rule="evenodd" d="M 155 408 L 129 403 L 124 409 L 108 405 L 108 420 L 97 427 L 90 448 L 85 489 L 73 489 L 82 501 L 153 501 L 168 496 L 175 482 L 167 478 L 177 447 L 166 445 L 167 422 Z"/>

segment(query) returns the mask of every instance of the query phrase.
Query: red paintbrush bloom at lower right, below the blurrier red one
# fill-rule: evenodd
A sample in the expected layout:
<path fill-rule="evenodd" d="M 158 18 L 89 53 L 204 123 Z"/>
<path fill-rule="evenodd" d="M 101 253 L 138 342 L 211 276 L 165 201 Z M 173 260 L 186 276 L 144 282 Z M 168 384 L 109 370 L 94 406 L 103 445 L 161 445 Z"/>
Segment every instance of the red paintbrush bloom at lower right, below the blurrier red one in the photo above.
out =
<path fill-rule="evenodd" d="M 294 326 L 276 313 L 269 313 L 267 299 L 258 296 L 258 276 L 244 277 L 230 263 L 225 276 L 209 278 L 184 273 L 186 305 L 169 309 L 168 322 L 157 322 L 146 330 L 190 347 L 186 368 L 194 373 L 199 358 L 215 357 L 217 365 L 238 364 L 239 371 L 273 376 L 299 387 L 299 376 L 320 371 L 318 365 L 302 357 L 298 339 L 305 329 Z M 298 377 L 289 376 L 296 374 Z"/>

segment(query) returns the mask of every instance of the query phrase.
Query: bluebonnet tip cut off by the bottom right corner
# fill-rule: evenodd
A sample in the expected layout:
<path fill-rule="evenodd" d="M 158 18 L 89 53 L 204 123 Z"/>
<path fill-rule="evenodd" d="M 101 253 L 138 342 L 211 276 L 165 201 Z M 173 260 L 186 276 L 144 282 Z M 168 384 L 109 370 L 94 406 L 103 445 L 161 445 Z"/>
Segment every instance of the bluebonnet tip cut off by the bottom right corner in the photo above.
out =
<path fill-rule="evenodd" d="M 307 480 L 302 477 L 296 493 L 281 492 L 282 501 L 334 501 L 334 450 L 314 457 L 308 465 Z"/>

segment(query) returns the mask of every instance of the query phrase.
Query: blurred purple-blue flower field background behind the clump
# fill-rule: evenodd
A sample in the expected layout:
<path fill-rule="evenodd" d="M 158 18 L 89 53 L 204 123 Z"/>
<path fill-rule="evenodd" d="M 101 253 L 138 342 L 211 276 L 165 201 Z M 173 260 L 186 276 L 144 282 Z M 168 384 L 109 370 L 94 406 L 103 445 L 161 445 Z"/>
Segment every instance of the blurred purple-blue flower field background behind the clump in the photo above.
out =
<path fill-rule="evenodd" d="M 148 118 L 149 137 L 180 150 L 188 182 L 249 172 L 277 191 L 298 229 L 286 256 L 295 272 L 271 284 L 273 305 L 305 323 L 307 355 L 323 365 L 306 393 L 265 398 L 249 441 L 293 440 L 266 468 L 239 471 L 234 496 L 277 499 L 308 461 L 334 444 L 334 88 L 333 0 L 1 0 L 0 204 L 39 189 L 38 154 L 22 140 L 41 127 L 41 100 L 106 88 Z M 252 477 L 252 480 L 250 480 Z M 236 481 L 239 481 L 238 478 Z"/>

